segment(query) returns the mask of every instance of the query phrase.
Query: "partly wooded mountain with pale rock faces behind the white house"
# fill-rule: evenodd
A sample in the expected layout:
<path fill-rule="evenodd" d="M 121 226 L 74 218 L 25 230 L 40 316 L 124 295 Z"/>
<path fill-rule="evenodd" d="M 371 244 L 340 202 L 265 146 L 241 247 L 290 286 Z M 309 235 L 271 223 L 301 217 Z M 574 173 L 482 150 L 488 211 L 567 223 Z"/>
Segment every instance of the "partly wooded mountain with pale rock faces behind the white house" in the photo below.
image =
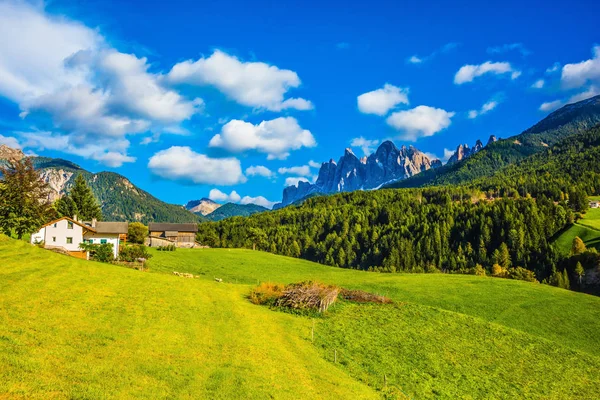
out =
<path fill-rule="evenodd" d="M 0 158 L 9 158 L 20 150 L 0 146 Z M 22 153 L 21 153 L 22 154 Z M 75 177 L 82 174 L 100 202 L 102 214 L 109 221 L 199 222 L 204 217 L 184 207 L 165 203 L 135 186 L 123 175 L 114 172 L 88 172 L 79 165 L 60 158 L 32 157 L 41 178 L 52 189 L 51 200 L 68 193 Z"/>

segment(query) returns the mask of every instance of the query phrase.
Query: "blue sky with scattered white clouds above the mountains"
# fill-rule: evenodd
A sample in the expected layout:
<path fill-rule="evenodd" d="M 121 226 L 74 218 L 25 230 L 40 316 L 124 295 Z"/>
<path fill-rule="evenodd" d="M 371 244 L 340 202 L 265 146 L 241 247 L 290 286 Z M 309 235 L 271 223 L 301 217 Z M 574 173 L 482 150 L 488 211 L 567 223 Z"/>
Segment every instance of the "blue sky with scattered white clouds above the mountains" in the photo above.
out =
<path fill-rule="evenodd" d="M 0 0 L 0 143 L 171 203 L 270 204 L 346 147 L 444 159 L 599 94 L 598 15 L 592 1 Z"/>

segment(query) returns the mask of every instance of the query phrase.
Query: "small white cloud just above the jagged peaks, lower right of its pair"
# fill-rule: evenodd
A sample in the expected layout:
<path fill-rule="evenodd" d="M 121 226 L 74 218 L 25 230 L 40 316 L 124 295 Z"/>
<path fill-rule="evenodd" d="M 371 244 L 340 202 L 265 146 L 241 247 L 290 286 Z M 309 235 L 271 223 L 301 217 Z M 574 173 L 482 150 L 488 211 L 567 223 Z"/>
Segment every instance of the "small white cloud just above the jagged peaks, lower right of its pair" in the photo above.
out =
<path fill-rule="evenodd" d="M 387 118 L 386 122 L 391 127 L 404 132 L 400 136 L 402 139 L 416 141 L 420 137 L 433 136 L 449 127 L 454 114 L 441 108 L 418 106 L 395 112 Z"/>

